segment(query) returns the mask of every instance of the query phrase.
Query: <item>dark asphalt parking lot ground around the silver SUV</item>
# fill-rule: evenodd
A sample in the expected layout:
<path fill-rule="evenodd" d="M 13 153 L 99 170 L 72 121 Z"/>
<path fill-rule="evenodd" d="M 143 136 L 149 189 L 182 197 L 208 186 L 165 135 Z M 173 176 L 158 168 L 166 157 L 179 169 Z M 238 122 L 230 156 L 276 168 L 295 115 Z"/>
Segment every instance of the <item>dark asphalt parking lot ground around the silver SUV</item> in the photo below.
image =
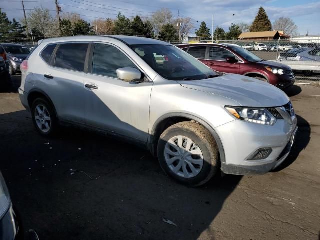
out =
<path fill-rule="evenodd" d="M 73 128 L 40 136 L 13 80 L 0 93 L 0 169 L 40 239 L 320 239 L 320 87 L 286 91 L 299 130 L 279 169 L 189 188 L 126 142 Z"/>

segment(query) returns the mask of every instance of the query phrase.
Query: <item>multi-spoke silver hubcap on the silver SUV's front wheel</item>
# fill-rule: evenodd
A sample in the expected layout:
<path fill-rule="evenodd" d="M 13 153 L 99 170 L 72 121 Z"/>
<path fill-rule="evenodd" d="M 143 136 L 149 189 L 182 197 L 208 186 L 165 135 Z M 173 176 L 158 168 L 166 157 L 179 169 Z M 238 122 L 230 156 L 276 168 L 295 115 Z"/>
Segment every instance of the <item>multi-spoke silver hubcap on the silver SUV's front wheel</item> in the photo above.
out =
<path fill-rule="evenodd" d="M 168 167 L 178 176 L 191 178 L 200 173 L 203 166 L 201 149 L 186 136 L 174 136 L 164 147 Z"/>

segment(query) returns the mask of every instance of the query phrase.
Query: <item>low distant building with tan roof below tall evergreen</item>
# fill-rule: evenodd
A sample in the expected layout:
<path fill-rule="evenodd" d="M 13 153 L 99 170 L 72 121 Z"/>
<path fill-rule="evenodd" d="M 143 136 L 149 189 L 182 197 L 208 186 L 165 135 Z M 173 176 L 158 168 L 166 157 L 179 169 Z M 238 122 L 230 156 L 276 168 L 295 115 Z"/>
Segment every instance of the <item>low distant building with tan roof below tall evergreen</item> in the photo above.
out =
<path fill-rule="evenodd" d="M 290 36 L 285 35 L 283 31 L 255 31 L 243 32 L 238 36 L 238 40 L 277 40 L 289 39 Z"/>

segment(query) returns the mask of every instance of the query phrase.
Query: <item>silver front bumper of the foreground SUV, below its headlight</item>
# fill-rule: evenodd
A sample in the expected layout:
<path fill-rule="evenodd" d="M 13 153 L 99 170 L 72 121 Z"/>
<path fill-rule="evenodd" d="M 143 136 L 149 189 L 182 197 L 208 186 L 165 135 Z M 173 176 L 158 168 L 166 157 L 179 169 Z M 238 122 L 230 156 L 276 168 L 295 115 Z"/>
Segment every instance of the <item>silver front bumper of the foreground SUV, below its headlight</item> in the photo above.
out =
<path fill-rule="evenodd" d="M 278 119 L 273 126 L 234 120 L 216 127 L 225 152 L 221 170 L 226 174 L 256 175 L 276 168 L 290 153 L 296 125 L 295 117 L 292 124 L 284 119 Z M 261 148 L 271 148 L 272 152 L 265 159 L 249 160 Z"/>

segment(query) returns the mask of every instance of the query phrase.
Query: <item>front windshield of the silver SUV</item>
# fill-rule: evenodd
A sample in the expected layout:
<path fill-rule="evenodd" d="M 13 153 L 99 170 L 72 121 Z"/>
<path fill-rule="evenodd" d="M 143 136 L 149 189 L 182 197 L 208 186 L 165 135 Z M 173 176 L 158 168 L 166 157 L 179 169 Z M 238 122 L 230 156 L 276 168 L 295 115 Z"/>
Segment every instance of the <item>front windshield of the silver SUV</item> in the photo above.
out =
<path fill-rule="evenodd" d="M 185 51 L 171 45 L 131 45 L 153 70 L 168 80 L 200 80 L 220 76 Z"/>

